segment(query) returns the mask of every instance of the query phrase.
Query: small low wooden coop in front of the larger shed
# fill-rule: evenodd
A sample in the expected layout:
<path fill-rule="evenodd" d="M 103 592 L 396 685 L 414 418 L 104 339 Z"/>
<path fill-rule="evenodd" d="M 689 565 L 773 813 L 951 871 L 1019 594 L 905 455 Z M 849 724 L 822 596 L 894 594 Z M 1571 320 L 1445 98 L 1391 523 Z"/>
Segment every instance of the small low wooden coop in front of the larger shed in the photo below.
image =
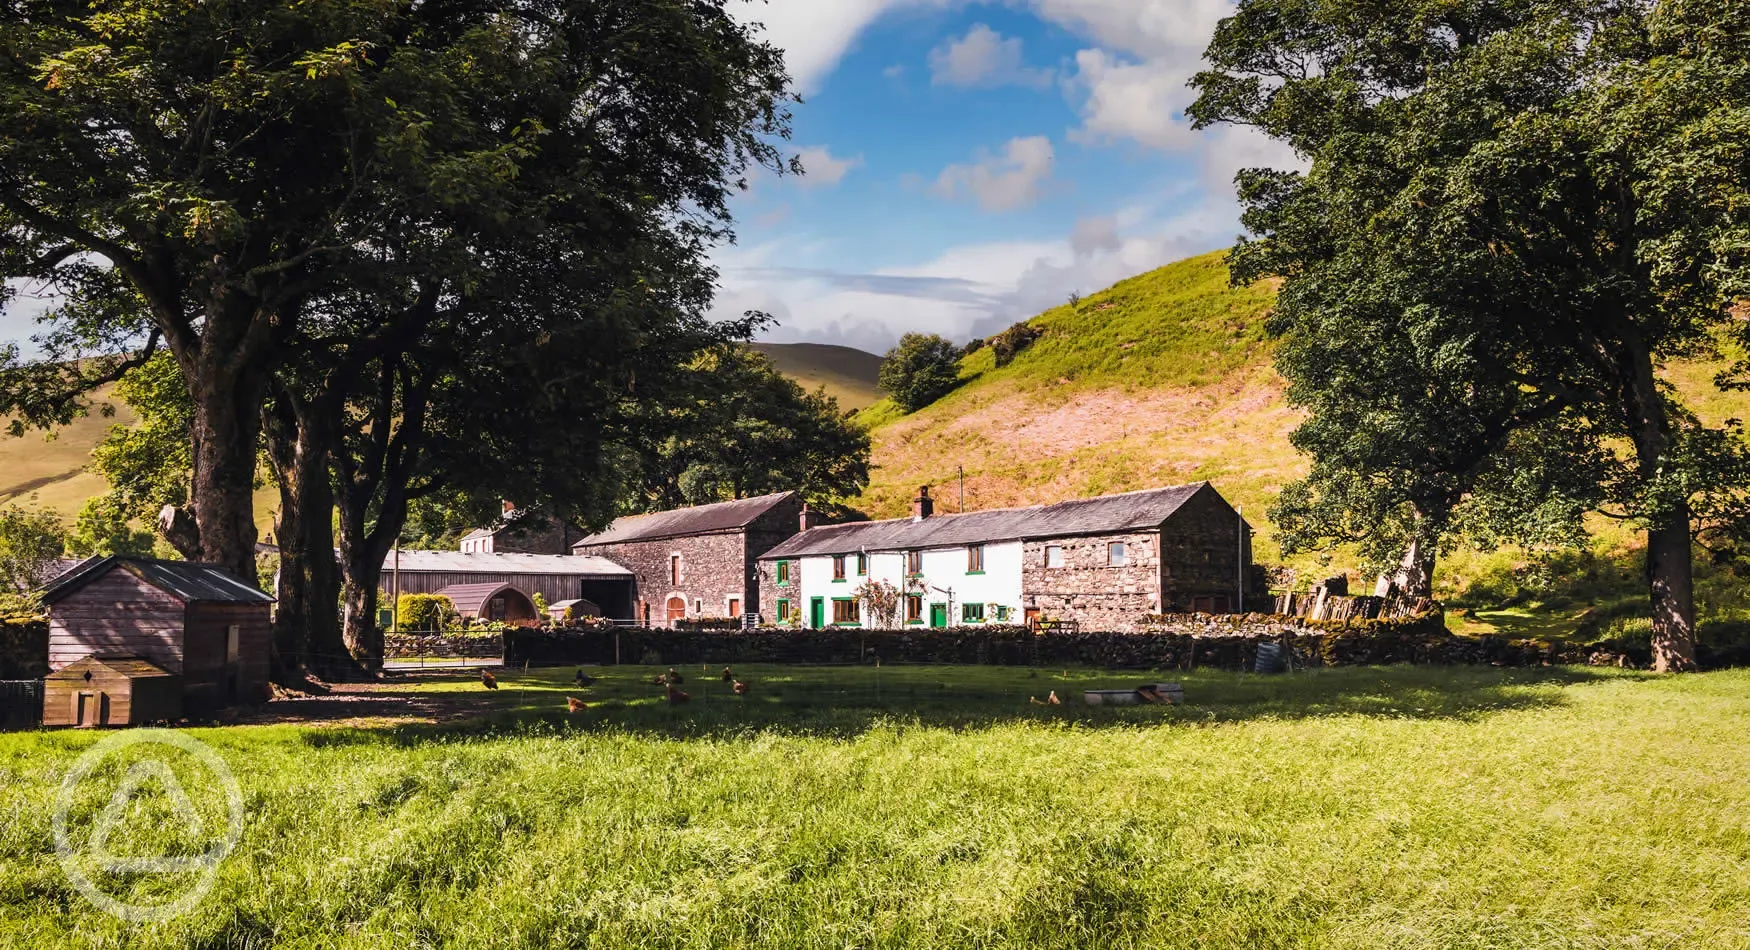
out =
<path fill-rule="evenodd" d="M 136 656 L 88 656 L 42 681 L 44 726 L 140 726 L 182 717 L 182 679 Z"/>

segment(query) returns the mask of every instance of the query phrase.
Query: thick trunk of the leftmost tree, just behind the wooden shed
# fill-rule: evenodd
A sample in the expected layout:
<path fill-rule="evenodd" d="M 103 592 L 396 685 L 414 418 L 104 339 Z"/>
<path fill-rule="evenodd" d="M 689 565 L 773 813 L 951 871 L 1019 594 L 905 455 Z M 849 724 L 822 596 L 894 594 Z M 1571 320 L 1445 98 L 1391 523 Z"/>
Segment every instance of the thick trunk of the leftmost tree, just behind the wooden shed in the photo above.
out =
<path fill-rule="evenodd" d="M 256 583 L 256 450 L 266 399 L 257 373 L 212 373 L 192 392 L 191 504 L 201 560 Z"/>

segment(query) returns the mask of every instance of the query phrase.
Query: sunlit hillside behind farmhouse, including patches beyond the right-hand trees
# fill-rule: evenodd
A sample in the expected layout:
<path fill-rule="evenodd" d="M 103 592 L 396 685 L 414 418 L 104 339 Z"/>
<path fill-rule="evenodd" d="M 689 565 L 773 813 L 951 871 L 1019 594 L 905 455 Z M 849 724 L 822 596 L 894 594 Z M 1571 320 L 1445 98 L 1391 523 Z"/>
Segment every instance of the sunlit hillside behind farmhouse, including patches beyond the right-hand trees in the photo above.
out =
<path fill-rule="evenodd" d="M 961 360 L 962 385 L 905 415 L 891 401 L 859 418 L 875 471 L 854 504 L 903 514 L 919 485 L 938 511 L 1046 504 L 1186 481 L 1213 481 L 1258 528 L 1256 556 L 1283 560 L 1265 509 L 1306 460 L 1288 444 L 1298 415 L 1283 401 L 1264 318 L 1274 287 L 1232 289 L 1222 254 L 1138 275 L 1031 322 L 1045 334 L 996 367 L 989 348 Z M 1750 418 L 1750 397 L 1713 374 L 1736 353 L 1676 362 L 1664 376 L 1706 422 Z M 1596 523 L 1589 551 L 1458 551 L 1437 570 L 1449 616 L 1470 632 L 1601 633 L 1643 625 L 1640 535 Z M 1290 560 L 1306 574 L 1354 567 L 1348 551 Z M 1741 584 L 1698 563 L 1704 619 L 1750 628 Z"/>

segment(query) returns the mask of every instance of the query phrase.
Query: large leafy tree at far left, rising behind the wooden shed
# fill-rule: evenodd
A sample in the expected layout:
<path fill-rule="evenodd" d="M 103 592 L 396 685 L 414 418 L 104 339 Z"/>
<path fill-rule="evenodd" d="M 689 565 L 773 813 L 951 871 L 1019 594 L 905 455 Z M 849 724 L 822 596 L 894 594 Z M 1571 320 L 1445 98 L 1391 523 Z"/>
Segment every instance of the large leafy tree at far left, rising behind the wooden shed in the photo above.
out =
<path fill-rule="evenodd" d="M 719 236 L 786 131 L 780 56 L 723 0 L 12 0 L 0 47 L 0 276 L 128 353 L 0 409 L 52 423 L 168 348 L 200 556 L 245 576 L 262 404 L 324 294 L 413 247 L 390 276 L 439 299 L 478 248 L 590 212 Z M 422 313 L 350 345 L 392 353 Z"/>

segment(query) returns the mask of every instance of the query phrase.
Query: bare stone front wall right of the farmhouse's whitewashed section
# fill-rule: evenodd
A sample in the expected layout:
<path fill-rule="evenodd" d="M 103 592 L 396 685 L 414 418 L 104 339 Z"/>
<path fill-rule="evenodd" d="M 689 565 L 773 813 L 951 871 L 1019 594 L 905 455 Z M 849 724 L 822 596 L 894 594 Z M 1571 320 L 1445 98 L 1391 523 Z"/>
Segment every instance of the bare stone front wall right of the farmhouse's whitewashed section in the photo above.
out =
<path fill-rule="evenodd" d="M 1111 567 L 1108 546 L 1125 544 L 1127 567 Z M 1064 565 L 1045 567 L 1045 549 L 1062 546 Z M 1127 633 L 1160 612 L 1160 539 L 1155 534 L 1102 534 L 1027 541 L 1020 551 L 1024 609 L 1069 619 L 1083 630 Z"/>

